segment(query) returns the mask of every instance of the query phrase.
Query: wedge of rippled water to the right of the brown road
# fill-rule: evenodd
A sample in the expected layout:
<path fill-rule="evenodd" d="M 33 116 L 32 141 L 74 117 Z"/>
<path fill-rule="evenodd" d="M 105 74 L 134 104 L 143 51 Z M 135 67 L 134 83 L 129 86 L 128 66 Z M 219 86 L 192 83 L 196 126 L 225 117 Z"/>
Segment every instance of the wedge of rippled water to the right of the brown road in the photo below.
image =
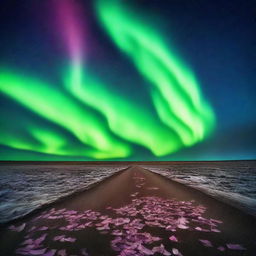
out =
<path fill-rule="evenodd" d="M 256 216 L 256 161 L 145 166 Z"/>

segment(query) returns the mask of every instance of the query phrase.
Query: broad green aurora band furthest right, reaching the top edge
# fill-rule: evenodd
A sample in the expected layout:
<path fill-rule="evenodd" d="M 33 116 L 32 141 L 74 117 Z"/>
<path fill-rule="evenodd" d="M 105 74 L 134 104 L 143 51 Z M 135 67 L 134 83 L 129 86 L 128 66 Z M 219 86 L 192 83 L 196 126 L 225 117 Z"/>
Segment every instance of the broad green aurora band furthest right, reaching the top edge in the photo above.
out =
<path fill-rule="evenodd" d="M 151 95 L 161 120 L 179 134 L 184 145 L 201 141 L 213 128 L 214 114 L 192 72 L 160 33 L 124 2 L 97 0 L 96 10 L 116 46 L 153 85 Z"/>

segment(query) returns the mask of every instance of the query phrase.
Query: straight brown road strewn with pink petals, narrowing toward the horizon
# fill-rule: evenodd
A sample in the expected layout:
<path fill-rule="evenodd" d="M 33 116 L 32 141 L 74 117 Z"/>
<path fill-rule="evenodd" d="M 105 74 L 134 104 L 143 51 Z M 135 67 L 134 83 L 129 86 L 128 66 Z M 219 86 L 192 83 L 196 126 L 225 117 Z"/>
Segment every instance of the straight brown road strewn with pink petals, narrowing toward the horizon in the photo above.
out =
<path fill-rule="evenodd" d="M 141 167 L 0 230 L 0 255 L 256 255 L 256 219 Z"/>

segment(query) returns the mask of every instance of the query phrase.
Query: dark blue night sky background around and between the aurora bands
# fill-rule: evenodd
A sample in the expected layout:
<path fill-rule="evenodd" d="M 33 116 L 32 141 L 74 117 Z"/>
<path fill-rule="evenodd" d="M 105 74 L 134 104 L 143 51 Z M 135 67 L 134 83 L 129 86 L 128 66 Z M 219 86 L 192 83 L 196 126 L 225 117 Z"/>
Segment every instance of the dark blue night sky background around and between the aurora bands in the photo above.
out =
<path fill-rule="evenodd" d="M 126 0 L 126 2 L 129 2 Z M 204 142 L 173 155 L 156 158 L 138 147 L 130 160 L 223 160 L 256 158 L 256 2 L 247 0 L 134 0 L 148 20 L 161 27 L 166 39 L 196 74 L 217 118 L 214 133 Z M 90 24 L 91 66 L 127 98 L 150 98 L 132 84 L 143 81 L 96 21 L 90 1 L 82 1 Z M 49 1 L 2 1 L 0 7 L 0 65 L 33 73 L 57 84 L 63 46 L 51 28 Z M 60 65 L 61 64 L 61 65 Z M 129 85 L 129 86 L 128 86 Z M 58 86 L 58 85 L 56 85 Z M 136 90 L 136 94 L 134 91 Z M 0 94 L 1 123 L 8 129 L 32 115 Z M 151 110 L 150 110 L 151 111 Z M 19 113 L 23 113 L 22 115 Z M 37 119 L 38 117 L 33 116 Z M 10 119 L 10 118 L 9 118 Z M 20 120 L 21 121 L 21 120 Z M 42 121 L 42 120 L 40 120 Z M 42 121 L 43 122 L 43 121 Z M 12 125 L 18 125 L 12 123 Z M 0 135 L 1 136 L 1 135 Z M 62 158 L 0 146 L 1 159 Z M 81 158 L 77 158 L 77 160 Z M 70 159 L 72 160 L 72 159 Z"/>

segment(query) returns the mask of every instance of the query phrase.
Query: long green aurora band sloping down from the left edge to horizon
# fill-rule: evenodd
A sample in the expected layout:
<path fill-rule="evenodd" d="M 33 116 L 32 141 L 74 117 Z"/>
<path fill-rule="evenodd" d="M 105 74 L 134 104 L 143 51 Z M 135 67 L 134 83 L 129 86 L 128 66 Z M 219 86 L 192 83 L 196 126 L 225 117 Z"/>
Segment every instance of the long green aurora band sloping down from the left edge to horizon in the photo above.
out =
<path fill-rule="evenodd" d="M 130 154 L 127 143 L 116 139 L 93 113 L 85 111 L 79 103 L 54 86 L 0 70 L 0 92 L 67 129 L 85 145 L 92 147 L 81 151 L 81 155 L 115 158 Z"/>

